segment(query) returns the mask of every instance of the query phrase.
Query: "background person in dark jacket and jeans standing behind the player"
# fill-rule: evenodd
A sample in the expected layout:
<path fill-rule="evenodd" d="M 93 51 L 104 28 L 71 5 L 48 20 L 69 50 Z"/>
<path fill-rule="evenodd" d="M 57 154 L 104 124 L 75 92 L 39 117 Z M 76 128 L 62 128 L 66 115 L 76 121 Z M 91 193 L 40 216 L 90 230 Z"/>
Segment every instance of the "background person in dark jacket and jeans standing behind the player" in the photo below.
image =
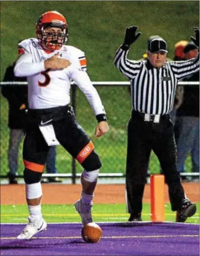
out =
<path fill-rule="evenodd" d="M 22 40 L 19 41 L 19 43 Z M 26 77 L 16 77 L 14 74 L 15 62 L 8 66 L 4 75 L 4 81 L 26 82 Z M 8 179 L 10 184 L 18 184 L 18 155 L 19 145 L 24 138 L 27 128 L 27 85 L 16 86 L 9 84 L 2 87 L 2 95 L 8 100 L 8 127 L 9 146 L 8 146 Z M 56 146 L 51 146 L 47 155 L 46 162 L 47 173 L 58 173 L 56 169 Z M 44 182 L 62 182 L 58 177 L 49 177 Z"/>

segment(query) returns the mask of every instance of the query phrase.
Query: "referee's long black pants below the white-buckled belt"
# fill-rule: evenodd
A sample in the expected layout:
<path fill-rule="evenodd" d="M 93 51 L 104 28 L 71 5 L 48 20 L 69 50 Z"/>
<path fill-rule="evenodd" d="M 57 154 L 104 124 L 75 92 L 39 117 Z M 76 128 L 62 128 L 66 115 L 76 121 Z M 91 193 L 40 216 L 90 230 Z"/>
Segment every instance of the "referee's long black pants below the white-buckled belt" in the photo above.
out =
<path fill-rule="evenodd" d="M 151 149 L 160 161 L 171 202 L 171 210 L 182 206 L 185 199 L 180 174 L 177 171 L 177 148 L 170 116 L 162 116 L 159 123 L 144 121 L 136 111 L 127 124 L 126 196 L 129 213 L 142 212 Z"/>

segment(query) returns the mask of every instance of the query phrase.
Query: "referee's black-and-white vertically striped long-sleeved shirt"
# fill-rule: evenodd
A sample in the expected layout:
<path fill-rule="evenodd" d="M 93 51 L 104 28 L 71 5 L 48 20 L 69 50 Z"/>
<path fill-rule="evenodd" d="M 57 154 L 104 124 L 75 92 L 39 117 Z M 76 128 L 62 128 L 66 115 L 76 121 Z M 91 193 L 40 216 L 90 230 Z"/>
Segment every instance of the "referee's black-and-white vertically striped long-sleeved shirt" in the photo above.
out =
<path fill-rule="evenodd" d="M 129 60 L 127 53 L 120 46 L 114 64 L 130 80 L 133 110 L 147 114 L 170 113 L 178 81 L 199 70 L 199 54 L 195 59 L 165 62 L 157 68 L 149 60 Z"/>

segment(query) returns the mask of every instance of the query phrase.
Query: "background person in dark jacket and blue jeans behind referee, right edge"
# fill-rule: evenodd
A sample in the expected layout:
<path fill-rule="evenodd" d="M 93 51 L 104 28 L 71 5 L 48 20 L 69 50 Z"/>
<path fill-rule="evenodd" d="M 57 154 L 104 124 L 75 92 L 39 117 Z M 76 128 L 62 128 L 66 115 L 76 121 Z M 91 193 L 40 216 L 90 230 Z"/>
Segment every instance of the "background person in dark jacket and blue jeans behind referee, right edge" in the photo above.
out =
<path fill-rule="evenodd" d="M 198 46 L 189 42 L 184 48 L 185 60 L 198 55 Z M 199 81 L 199 71 L 184 81 Z M 175 138 L 177 141 L 177 168 L 184 173 L 184 163 L 191 154 L 192 172 L 199 172 L 199 86 L 184 86 L 183 102 L 177 110 L 175 121 Z M 187 180 L 182 176 L 182 180 Z"/>

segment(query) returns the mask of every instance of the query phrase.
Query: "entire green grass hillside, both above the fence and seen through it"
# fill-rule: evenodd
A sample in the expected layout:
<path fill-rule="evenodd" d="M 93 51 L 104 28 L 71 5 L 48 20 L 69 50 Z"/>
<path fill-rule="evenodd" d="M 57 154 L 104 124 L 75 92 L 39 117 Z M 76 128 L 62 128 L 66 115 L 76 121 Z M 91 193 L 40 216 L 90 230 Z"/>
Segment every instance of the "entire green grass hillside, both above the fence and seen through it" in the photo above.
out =
<path fill-rule="evenodd" d="M 173 58 L 174 45 L 189 40 L 194 26 L 199 24 L 199 1 L 2 1 L 1 2 L 1 72 L 17 57 L 19 40 L 35 37 L 35 23 L 48 10 L 63 13 L 69 25 L 69 45 L 84 50 L 88 74 L 92 81 L 127 81 L 113 66 L 113 56 L 123 42 L 125 29 L 139 26 L 142 36 L 131 48 L 130 59 L 140 59 L 151 35 L 160 35 L 168 43 L 168 56 Z M 81 10 L 81 11 L 80 11 Z M 101 95 L 110 131 L 103 138 L 94 138 L 96 120 L 91 107 L 80 90 L 77 91 L 77 119 L 91 136 L 101 157 L 102 173 L 125 173 L 126 124 L 131 102 L 126 87 L 96 87 Z M 9 140 L 8 104 L 1 97 L 1 174 L 8 172 Z M 191 159 L 185 163 L 191 172 Z M 57 169 L 71 173 L 71 156 L 57 146 Z M 77 172 L 82 168 L 77 163 Z M 159 173 L 156 156 L 151 154 L 150 172 Z M 23 173 L 22 144 L 19 150 L 19 170 Z"/>

